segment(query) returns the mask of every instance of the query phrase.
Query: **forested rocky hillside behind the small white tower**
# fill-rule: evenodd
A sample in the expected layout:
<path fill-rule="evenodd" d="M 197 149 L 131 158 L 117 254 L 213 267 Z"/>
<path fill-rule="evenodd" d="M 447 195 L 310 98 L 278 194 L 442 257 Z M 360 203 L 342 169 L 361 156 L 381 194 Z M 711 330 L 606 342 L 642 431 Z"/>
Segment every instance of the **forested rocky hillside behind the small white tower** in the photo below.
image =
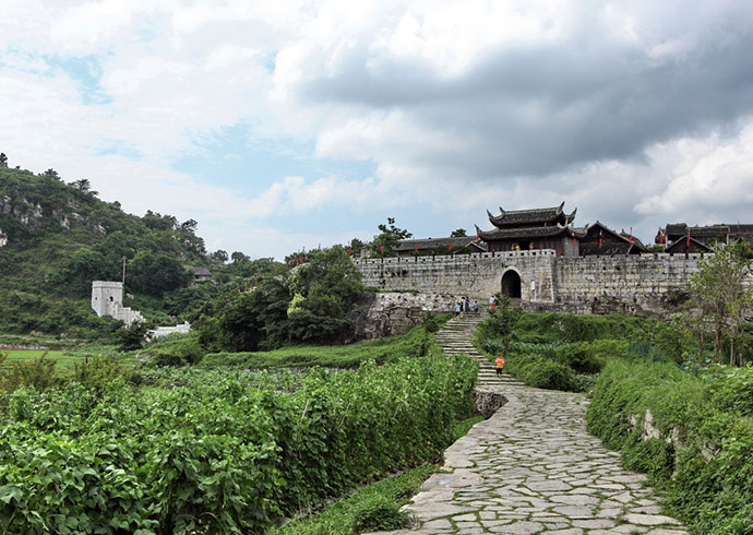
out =
<path fill-rule="evenodd" d="M 180 314 L 215 293 L 212 285 L 189 288 L 186 268 L 222 271 L 227 260 L 223 251 L 208 255 L 195 229 L 192 219 L 127 214 L 97 199 L 85 179 L 65 183 L 53 169 L 0 167 L 0 331 L 110 331 L 113 322 L 88 308 L 91 284 L 120 281 L 123 257 L 131 305 L 157 319 Z"/>

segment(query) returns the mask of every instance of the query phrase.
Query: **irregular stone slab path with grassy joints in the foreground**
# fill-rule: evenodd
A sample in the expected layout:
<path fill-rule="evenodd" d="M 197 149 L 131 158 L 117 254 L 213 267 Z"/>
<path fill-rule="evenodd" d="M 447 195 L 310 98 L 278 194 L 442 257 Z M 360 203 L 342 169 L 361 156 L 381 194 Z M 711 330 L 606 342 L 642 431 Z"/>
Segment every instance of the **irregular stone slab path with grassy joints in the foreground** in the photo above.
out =
<path fill-rule="evenodd" d="M 688 533 L 645 476 L 586 432 L 582 394 L 497 389 L 507 404 L 445 451 L 406 507 L 417 525 L 392 535 Z"/>

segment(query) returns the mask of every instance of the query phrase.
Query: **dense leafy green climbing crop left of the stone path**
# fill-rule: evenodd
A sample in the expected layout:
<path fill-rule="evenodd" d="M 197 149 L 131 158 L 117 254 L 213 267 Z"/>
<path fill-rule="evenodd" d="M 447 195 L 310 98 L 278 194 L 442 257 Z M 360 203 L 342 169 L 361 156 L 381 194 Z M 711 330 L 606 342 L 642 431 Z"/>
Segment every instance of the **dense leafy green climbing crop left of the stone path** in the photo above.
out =
<path fill-rule="evenodd" d="M 0 430 L 0 532 L 260 533 L 431 460 L 473 411 L 476 365 L 431 355 L 315 370 L 295 392 L 200 371 L 172 388 L 19 390 Z"/>

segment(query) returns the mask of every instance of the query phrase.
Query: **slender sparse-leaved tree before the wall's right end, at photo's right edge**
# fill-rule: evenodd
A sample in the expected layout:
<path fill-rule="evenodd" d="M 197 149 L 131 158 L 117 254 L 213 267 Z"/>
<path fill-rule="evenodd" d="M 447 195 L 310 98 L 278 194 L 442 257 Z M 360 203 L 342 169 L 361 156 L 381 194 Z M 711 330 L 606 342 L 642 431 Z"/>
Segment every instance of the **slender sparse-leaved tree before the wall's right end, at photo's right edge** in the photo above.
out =
<path fill-rule="evenodd" d="M 740 252 L 739 246 L 716 246 L 714 254 L 698 261 L 698 271 L 689 283 L 692 306 L 697 308 L 689 313 L 700 312 L 697 333 L 701 350 L 705 334 L 710 330 L 714 356 L 720 361 L 722 341 L 727 335 L 730 365 L 736 364 L 736 342 L 746 316 L 753 310 L 753 294 L 745 285 L 745 280 L 751 276 L 751 261 Z"/>

